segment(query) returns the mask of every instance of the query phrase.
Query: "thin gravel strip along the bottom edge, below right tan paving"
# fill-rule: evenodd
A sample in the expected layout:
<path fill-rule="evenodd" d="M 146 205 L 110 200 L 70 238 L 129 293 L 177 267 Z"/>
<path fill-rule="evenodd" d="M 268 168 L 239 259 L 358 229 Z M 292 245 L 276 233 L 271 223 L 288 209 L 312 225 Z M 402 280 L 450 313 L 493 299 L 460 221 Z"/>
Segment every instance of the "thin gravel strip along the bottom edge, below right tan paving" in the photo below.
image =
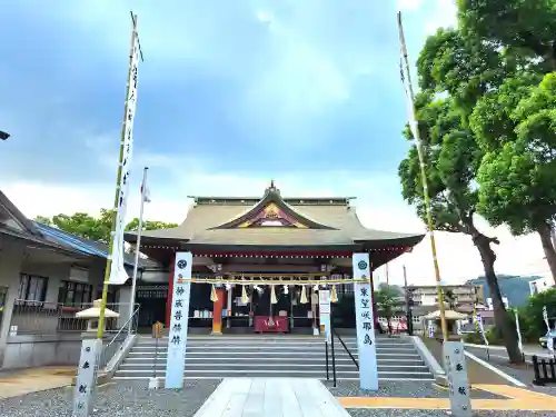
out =
<path fill-rule="evenodd" d="M 424 409 L 348 409 L 351 417 L 446 417 L 447 410 Z M 476 417 L 554 417 L 554 411 L 474 411 Z"/>

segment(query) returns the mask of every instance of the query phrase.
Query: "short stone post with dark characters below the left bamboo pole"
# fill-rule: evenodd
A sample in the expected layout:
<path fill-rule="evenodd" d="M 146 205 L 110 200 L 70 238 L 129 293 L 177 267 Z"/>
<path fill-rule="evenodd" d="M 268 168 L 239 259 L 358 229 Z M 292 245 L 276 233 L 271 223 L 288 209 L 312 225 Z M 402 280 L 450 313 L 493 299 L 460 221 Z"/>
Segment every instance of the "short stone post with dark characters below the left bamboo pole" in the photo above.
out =
<path fill-rule="evenodd" d="M 97 367 L 102 350 L 102 340 L 83 339 L 73 395 L 73 417 L 89 417 L 97 386 Z"/>

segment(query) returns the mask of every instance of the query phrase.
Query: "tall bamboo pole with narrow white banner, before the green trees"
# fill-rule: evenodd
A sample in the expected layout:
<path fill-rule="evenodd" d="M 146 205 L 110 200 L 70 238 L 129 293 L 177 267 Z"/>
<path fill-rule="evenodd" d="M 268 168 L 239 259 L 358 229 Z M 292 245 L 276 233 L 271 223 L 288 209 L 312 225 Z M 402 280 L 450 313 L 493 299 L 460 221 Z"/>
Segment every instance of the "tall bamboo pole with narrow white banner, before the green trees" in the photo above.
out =
<path fill-rule="evenodd" d="M 407 90 L 409 93 L 411 112 L 415 116 L 415 95 L 411 85 L 411 72 L 409 70 L 410 68 L 409 60 L 407 58 L 407 46 L 406 46 L 406 38 L 404 36 L 404 26 L 401 24 L 401 12 L 398 12 L 398 29 L 399 29 L 399 41 L 401 43 L 401 54 L 404 58 L 405 71 L 407 77 Z M 419 157 L 423 196 L 425 199 L 425 210 L 427 212 L 427 229 L 428 229 L 428 235 L 430 237 L 430 250 L 433 252 L 433 266 L 435 268 L 436 290 L 438 294 L 438 309 L 440 310 L 440 326 L 443 329 L 443 339 L 444 341 L 446 341 L 448 340 L 448 326 L 446 324 L 446 309 L 444 307 L 444 291 L 441 288 L 440 268 L 438 267 L 438 258 L 436 255 L 435 228 L 433 222 L 433 214 L 430 210 L 430 196 L 428 192 L 426 162 L 423 156 L 423 142 L 419 136 L 419 129 L 416 127 L 415 129 L 411 130 L 415 136 L 415 145 L 417 147 L 417 155 Z"/>

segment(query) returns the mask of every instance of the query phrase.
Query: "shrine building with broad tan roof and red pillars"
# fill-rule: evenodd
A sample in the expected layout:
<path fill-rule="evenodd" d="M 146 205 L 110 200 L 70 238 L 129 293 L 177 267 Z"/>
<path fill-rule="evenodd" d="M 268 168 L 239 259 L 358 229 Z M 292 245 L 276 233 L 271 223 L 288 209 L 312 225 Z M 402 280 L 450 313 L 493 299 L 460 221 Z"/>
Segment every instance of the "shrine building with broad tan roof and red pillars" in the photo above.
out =
<path fill-rule="evenodd" d="M 365 228 L 350 205 L 354 197 L 282 198 L 274 181 L 262 198 L 192 199 L 180 226 L 141 236 L 141 252 L 158 261 L 163 272 L 143 272 L 138 280 L 140 328 L 170 322 L 176 251 L 192 252 L 192 278 L 221 282 L 191 284 L 190 331 L 309 334 L 319 326 L 320 286 L 300 286 L 297 280 L 350 279 L 353 254 L 368 252 L 375 270 L 424 238 Z M 128 232 L 126 241 L 135 245 L 137 236 Z M 257 285 L 269 279 L 284 285 Z M 227 285 L 227 280 L 249 285 Z M 354 327 L 353 284 L 335 287 L 335 315 L 344 320 L 342 327 Z"/>

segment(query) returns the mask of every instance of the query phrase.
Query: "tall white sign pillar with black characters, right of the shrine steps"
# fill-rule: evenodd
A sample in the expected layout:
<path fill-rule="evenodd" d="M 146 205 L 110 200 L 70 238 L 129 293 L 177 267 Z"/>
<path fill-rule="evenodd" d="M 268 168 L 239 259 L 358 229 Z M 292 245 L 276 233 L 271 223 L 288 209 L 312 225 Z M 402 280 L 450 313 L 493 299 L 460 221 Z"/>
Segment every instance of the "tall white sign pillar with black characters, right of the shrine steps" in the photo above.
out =
<path fill-rule="evenodd" d="M 369 254 L 354 254 L 353 268 L 354 279 L 366 280 L 366 282 L 354 284 L 357 350 L 359 353 L 359 386 L 361 389 L 377 390 L 378 365 Z"/>

